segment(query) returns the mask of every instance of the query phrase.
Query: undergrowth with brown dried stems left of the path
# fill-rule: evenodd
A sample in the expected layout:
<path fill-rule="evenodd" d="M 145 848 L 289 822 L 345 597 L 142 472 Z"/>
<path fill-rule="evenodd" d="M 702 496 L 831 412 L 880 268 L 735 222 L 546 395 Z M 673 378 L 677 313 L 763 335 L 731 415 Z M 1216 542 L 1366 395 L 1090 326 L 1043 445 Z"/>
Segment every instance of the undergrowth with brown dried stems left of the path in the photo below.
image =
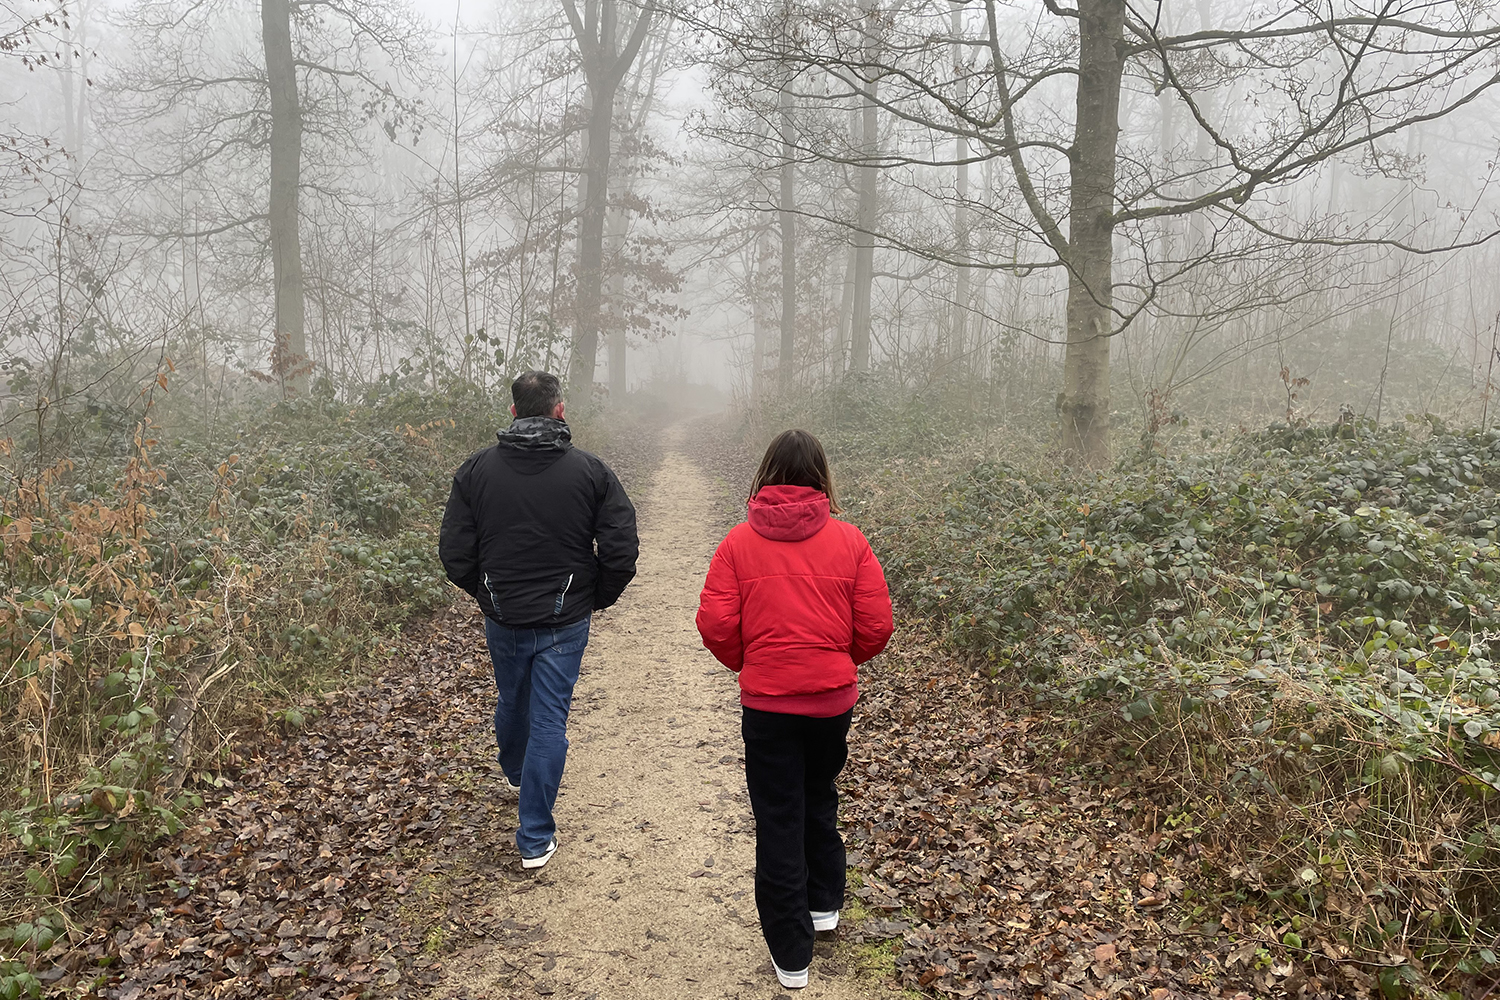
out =
<path fill-rule="evenodd" d="M 501 402 L 394 381 L 248 409 L 212 441 L 171 418 L 27 468 L 0 496 L 0 997 L 27 955 L 123 888 L 232 771 L 240 733 L 381 663 L 448 600 L 448 474 Z"/>

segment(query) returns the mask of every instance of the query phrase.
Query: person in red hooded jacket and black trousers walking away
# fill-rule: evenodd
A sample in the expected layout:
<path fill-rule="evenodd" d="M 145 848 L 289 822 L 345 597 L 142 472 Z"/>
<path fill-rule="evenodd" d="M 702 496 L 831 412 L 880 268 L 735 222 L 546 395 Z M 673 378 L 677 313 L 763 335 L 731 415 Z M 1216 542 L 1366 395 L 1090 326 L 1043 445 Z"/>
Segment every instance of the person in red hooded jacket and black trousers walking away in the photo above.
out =
<path fill-rule="evenodd" d="M 834 778 L 849 756 L 855 667 L 891 639 L 891 595 L 870 543 L 837 513 L 818 438 L 786 430 L 718 546 L 698 631 L 740 675 L 754 903 L 786 988 L 807 985 L 813 933 L 838 925 L 844 849 Z"/>

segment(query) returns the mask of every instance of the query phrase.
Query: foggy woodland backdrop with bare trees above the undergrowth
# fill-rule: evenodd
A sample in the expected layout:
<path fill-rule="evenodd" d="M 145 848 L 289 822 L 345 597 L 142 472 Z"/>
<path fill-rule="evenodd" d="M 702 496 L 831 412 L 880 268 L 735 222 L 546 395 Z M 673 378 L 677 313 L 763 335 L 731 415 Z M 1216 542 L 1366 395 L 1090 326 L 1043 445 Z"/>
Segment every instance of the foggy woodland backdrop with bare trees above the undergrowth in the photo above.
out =
<path fill-rule="evenodd" d="M 528 367 L 1084 463 L 1486 414 L 1491 6 L 1054 7 L 9 0 L 6 433 Z"/>

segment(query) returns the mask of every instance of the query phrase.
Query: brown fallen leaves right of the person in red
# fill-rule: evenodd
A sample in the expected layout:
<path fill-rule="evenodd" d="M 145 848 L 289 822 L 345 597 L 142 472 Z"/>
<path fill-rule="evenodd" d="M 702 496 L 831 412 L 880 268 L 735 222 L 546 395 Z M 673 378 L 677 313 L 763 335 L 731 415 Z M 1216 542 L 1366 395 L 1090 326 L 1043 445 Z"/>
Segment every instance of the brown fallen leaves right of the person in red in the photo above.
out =
<path fill-rule="evenodd" d="M 920 633 L 898 630 L 866 667 L 840 786 L 868 916 L 848 936 L 892 945 L 902 987 L 1070 1000 L 1376 987 L 1347 955 L 1288 954 L 1252 904 L 1215 898 L 1192 831 L 1167 829 L 1124 762 L 1070 760 L 1058 723 Z"/>

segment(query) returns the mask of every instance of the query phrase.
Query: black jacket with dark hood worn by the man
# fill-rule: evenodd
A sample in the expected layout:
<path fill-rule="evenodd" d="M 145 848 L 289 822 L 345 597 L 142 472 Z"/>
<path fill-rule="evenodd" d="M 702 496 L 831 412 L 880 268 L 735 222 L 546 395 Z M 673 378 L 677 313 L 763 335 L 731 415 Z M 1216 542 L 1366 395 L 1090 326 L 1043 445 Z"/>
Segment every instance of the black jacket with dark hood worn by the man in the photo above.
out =
<path fill-rule="evenodd" d="M 636 508 L 552 417 L 524 417 L 453 475 L 438 555 L 480 610 L 549 628 L 609 607 L 636 574 Z"/>

